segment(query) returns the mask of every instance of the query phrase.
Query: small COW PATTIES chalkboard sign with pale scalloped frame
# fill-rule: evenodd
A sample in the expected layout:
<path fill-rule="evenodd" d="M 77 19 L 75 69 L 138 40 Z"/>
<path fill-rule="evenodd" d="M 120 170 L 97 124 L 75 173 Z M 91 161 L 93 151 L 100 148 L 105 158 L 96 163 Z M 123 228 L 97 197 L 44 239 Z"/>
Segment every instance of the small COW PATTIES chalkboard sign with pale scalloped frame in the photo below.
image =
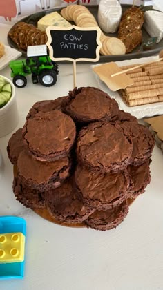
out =
<path fill-rule="evenodd" d="M 101 30 L 97 27 L 80 28 L 72 25 L 68 28 L 49 26 L 46 29 L 46 43 L 50 59 L 68 61 L 98 61 Z"/>

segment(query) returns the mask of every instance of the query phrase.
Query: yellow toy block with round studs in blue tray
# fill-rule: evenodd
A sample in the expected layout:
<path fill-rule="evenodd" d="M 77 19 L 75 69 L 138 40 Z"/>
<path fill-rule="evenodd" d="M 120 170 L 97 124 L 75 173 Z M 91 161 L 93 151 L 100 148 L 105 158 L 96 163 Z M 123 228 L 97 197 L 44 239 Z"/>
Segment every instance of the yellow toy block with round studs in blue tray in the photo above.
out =
<path fill-rule="evenodd" d="M 23 233 L 0 233 L 0 263 L 23 262 L 24 248 Z"/>

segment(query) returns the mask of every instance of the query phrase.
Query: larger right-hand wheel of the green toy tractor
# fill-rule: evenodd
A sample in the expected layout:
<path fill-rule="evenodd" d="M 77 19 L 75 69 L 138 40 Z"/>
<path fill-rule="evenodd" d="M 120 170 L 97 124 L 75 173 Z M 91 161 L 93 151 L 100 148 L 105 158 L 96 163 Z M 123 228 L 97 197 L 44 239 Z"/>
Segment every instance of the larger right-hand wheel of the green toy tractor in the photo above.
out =
<path fill-rule="evenodd" d="M 43 70 L 39 74 L 39 82 L 43 86 L 53 86 L 57 81 L 57 75 L 52 70 Z"/>

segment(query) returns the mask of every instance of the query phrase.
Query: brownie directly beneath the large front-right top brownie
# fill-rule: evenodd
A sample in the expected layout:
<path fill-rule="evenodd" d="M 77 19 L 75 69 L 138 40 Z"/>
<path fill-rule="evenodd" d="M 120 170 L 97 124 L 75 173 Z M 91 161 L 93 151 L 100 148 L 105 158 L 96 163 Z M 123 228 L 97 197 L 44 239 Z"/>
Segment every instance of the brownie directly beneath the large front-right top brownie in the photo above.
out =
<path fill-rule="evenodd" d="M 98 210 L 111 209 L 121 204 L 128 196 L 129 176 L 119 173 L 96 173 L 77 166 L 75 184 L 80 199 Z"/>

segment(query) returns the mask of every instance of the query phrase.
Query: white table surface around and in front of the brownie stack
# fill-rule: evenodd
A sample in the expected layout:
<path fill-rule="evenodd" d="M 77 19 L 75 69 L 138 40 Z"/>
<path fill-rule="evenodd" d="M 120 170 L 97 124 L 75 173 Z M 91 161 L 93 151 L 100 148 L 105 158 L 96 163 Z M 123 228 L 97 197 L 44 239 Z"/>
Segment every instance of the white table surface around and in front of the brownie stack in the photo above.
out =
<path fill-rule="evenodd" d="M 4 43 L 7 43 L 9 28 L 0 25 L 0 40 Z M 10 78 L 8 67 L 0 73 Z M 77 64 L 77 86 L 97 86 L 90 64 Z M 35 101 L 67 95 L 72 88 L 72 64 L 59 64 L 57 84 L 52 88 L 32 84 L 29 76 L 26 88 L 16 88 L 17 128 L 23 126 Z M 0 281 L 0 289 L 163 289 L 162 151 L 155 146 L 151 184 L 146 193 L 131 205 L 126 219 L 117 229 L 105 232 L 74 229 L 52 224 L 15 200 L 12 193 L 13 168 L 6 153 L 10 135 L 0 139 L 5 163 L 0 179 L 0 215 L 17 215 L 26 219 L 26 265 L 23 280 Z"/>

